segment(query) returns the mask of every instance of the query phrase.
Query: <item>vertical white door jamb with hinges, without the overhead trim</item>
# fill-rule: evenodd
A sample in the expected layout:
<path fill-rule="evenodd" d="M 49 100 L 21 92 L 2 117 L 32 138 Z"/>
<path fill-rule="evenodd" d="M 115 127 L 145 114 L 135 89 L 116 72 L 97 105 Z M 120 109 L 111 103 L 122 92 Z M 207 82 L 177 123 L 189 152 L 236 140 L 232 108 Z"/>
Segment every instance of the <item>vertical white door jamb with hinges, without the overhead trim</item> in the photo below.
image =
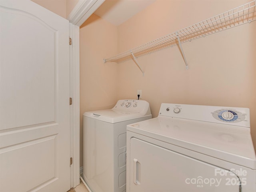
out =
<path fill-rule="evenodd" d="M 70 45 L 70 188 L 80 184 L 80 61 L 79 61 L 79 27 L 69 24 Z"/>

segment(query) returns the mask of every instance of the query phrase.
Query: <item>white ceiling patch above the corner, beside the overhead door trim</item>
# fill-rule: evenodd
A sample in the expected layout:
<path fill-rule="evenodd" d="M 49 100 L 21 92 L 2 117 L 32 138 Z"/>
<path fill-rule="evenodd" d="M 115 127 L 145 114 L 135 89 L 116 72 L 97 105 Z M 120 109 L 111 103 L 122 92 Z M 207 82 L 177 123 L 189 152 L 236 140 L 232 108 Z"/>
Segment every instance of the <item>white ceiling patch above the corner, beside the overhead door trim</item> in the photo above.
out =
<path fill-rule="evenodd" d="M 118 26 L 156 0 L 105 0 L 94 14 Z"/>

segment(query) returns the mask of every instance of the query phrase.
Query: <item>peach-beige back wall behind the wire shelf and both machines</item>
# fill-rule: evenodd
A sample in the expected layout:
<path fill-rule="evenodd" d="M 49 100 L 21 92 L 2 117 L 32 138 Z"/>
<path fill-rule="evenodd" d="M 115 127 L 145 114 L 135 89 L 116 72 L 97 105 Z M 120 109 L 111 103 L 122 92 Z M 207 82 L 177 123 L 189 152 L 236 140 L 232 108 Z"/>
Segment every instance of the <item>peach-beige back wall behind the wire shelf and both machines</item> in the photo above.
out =
<path fill-rule="evenodd" d="M 118 52 L 244 3 L 156 1 L 118 26 Z M 162 102 L 248 107 L 256 148 L 255 32 L 256 22 L 252 22 L 182 44 L 189 70 L 185 70 L 178 46 L 138 58 L 144 77 L 132 60 L 118 64 L 118 99 L 135 99 L 136 91 L 142 90 L 153 117 Z"/>

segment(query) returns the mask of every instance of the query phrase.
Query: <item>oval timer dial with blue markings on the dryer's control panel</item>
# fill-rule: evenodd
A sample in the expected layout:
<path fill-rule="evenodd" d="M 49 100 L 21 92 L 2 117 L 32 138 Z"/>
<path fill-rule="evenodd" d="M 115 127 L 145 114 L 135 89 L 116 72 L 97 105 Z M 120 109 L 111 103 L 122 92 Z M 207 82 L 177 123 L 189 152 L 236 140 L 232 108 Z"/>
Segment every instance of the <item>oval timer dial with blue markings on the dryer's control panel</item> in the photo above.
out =
<path fill-rule="evenodd" d="M 246 114 L 234 109 L 220 109 L 212 112 L 212 116 L 223 122 L 240 122 L 244 121 Z"/>

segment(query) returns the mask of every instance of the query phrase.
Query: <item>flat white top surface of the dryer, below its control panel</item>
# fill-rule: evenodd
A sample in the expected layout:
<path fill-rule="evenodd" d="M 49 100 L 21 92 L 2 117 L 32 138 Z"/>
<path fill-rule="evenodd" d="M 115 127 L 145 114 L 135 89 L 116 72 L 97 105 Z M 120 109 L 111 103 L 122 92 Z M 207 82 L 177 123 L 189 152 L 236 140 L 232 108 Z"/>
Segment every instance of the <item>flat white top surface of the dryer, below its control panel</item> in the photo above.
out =
<path fill-rule="evenodd" d="M 158 116 L 127 130 L 256 170 L 248 128 Z"/>

